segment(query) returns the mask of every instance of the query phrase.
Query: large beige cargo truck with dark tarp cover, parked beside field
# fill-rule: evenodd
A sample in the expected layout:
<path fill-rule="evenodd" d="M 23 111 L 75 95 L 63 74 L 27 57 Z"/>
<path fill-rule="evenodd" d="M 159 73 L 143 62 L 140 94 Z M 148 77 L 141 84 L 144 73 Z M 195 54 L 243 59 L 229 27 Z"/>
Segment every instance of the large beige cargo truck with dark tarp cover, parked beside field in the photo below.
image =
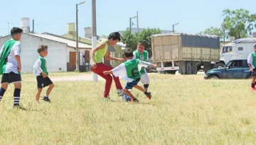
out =
<path fill-rule="evenodd" d="M 186 33 L 151 35 L 151 59 L 159 73 L 197 74 L 213 69 L 220 60 L 220 37 Z"/>

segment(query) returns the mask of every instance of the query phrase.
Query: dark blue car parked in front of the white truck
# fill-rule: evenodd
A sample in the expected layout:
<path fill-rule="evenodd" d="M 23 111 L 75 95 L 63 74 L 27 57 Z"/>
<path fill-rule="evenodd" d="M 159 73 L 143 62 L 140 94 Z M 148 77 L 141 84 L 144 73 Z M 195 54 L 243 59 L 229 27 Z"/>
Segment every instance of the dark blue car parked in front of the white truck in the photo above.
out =
<path fill-rule="evenodd" d="M 247 59 L 233 59 L 218 69 L 206 72 L 204 79 L 250 79 L 250 68 Z"/>

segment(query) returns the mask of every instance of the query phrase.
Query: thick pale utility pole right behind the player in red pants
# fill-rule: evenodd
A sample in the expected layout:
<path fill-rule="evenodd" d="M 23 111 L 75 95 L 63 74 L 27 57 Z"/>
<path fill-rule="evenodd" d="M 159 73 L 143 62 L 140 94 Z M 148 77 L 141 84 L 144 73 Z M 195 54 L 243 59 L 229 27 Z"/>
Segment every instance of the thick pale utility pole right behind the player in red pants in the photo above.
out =
<path fill-rule="evenodd" d="M 96 29 L 96 0 L 92 0 L 92 49 L 97 45 L 97 29 Z M 92 56 L 90 56 L 91 58 Z M 104 59 L 104 58 L 103 58 Z M 97 74 L 92 72 L 92 81 L 97 82 Z"/>

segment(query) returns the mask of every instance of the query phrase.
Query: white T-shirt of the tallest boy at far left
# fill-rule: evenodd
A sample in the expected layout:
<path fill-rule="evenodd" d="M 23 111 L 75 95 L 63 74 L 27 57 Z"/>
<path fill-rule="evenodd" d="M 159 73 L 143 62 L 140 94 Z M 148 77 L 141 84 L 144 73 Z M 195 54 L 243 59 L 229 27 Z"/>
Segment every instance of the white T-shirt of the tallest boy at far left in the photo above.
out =
<path fill-rule="evenodd" d="M 0 54 L 3 51 L 4 45 L 1 47 Z M 14 43 L 13 47 L 11 47 L 10 54 L 8 55 L 7 64 L 6 64 L 6 71 L 5 73 L 10 73 L 13 71 L 14 73 L 18 74 L 18 62 L 16 61 L 15 56 L 21 56 L 21 42 L 17 41 Z"/>

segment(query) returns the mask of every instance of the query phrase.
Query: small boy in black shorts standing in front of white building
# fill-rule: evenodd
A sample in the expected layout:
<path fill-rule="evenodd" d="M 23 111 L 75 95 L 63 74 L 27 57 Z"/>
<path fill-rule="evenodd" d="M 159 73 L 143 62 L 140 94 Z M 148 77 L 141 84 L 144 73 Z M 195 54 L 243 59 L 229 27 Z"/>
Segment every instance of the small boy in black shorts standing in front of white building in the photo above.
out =
<path fill-rule="evenodd" d="M 48 46 L 47 45 L 39 45 L 38 47 L 39 57 L 36 59 L 35 64 L 33 64 L 33 74 L 36 76 L 37 81 L 37 88 L 38 92 L 36 93 L 36 103 L 39 103 L 39 98 L 41 92 L 44 87 L 49 86 L 46 91 L 46 95 L 43 97 L 43 100 L 50 103 L 49 95 L 50 92 L 53 90 L 54 85 L 53 82 L 48 77 L 48 71 L 46 66 L 46 59 L 48 55 Z"/>

